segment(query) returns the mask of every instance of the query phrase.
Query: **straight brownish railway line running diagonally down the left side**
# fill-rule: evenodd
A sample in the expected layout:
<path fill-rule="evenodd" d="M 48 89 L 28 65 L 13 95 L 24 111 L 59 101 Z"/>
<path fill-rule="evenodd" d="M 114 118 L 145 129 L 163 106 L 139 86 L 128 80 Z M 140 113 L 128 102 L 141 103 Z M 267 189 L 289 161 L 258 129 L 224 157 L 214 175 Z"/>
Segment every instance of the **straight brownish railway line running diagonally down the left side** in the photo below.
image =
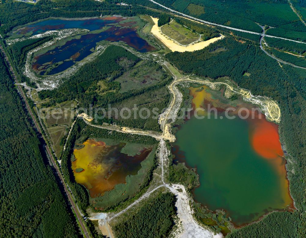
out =
<path fill-rule="evenodd" d="M 12 75 L 13 75 L 14 81 L 15 81 L 15 83 L 17 84 L 17 83 L 18 83 L 18 82 L 17 82 L 17 78 L 16 78 L 16 76 L 15 76 L 15 74 L 14 74 L 14 71 L 13 71 L 13 68 L 12 68 L 10 62 L 9 62 L 9 59 L 7 58 L 6 53 L 5 53 L 4 49 L 2 48 L 2 45 L 0 45 L 0 49 L 1 49 L 1 51 L 2 51 L 2 54 L 4 55 L 4 58 L 5 58 L 5 60 L 6 60 L 6 63 L 9 65 L 9 70 L 11 71 L 11 73 L 12 73 Z M 36 129 L 39 131 L 40 134 L 42 134 L 42 131 L 40 130 L 40 127 L 38 126 L 38 123 L 36 122 L 36 119 L 35 119 L 35 117 L 34 117 L 32 111 L 31 111 L 31 109 L 30 109 L 30 106 L 29 106 L 29 104 L 28 104 L 28 101 L 26 100 L 26 97 L 24 96 L 24 93 L 23 93 L 23 91 L 22 91 L 22 89 L 21 89 L 21 86 L 17 84 L 17 87 L 18 87 L 19 92 L 20 92 L 20 94 L 21 94 L 21 96 L 22 96 L 22 98 L 23 98 L 23 100 L 24 100 L 24 102 L 25 102 L 25 104 L 26 104 L 26 106 L 27 106 L 27 109 L 28 109 L 28 111 L 29 111 L 29 113 L 30 113 L 30 115 L 31 115 L 31 117 L 32 117 L 32 120 L 33 120 L 33 122 L 34 122 L 34 124 L 35 124 Z M 83 217 L 80 216 L 80 213 L 79 213 L 78 210 L 77 210 L 76 204 L 73 202 L 73 200 L 72 200 L 72 198 L 71 198 L 71 195 L 70 195 L 69 191 L 67 190 L 66 183 L 64 182 L 64 179 L 63 179 L 63 177 L 62 177 L 62 173 L 59 171 L 59 168 L 57 167 L 57 165 L 56 165 L 55 162 L 54 162 L 54 159 L 53 159 L 53 157 L 52 157 L 52 153 L 51 153 L 51 151 L 50 151 L 50 149 L 49 149 L 49 146 L 47 145 L 46 142 L 45 142 L 45 144 L 46 144 L 46 145 L 45 145 L 46 151 L 47 151 L 47 153 L 48 153 L 48 155 L 49 155 L 49 157 L 50 157 L 50 160 L 51 160 L 51 162 L 52 162 L 54 168 L 56 169 L 56 173 L 57 173 L 59 179 L 61 179 L 61 182 L 62 182 L 63 187 L 64 187 L 64 189 L 65 189 L 65 193 L 66 193 L 66 195 L 67 195 L 67 197 L 68 197 L 68 199 L 69 199 L 69 202 L 71 203 L 71 206 L 72 206 L 72 208 L 73 208 L 73 210 L 74 210 L 74 213 L 76 214 L 76 217 L 77 217 L 77 219 L 78 219 L 78 221 L 79 221 L 79 223 L 80 223 L 80 225 L 81 225 L 81 228 L 82 228 L 82 230 L 83 230 L 83 232 L 84 232 L 84 235 L 85 235 L 86 238 L 90 238 L 89 235 L 88 235 L 88 232 L 87 232 L 87 230 L 86 230 L 86 228 L 85 228 L 85 226 L 84 226 L 84 224 L 83 224 Z"/>

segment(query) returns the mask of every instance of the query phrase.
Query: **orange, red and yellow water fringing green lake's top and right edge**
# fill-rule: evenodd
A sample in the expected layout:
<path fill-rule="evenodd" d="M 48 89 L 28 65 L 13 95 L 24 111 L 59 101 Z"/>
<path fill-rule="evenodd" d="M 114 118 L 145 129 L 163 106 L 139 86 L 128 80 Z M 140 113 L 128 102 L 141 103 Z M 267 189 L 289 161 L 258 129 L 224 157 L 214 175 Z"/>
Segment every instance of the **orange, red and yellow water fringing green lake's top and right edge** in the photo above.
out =
<path fill-rule="evenodd" d="M 208 106 L 210 106 L 210 108 L 216 108 L 219 115 L 224 116 L 222 114 L 224 110 L 233 107 L 236 110 L 232 111 L 230 115 L 235 115 L 236 117 L 239 115 L 240 109 L 243 109 L 242 113 L 240 113 L 242 117 L 249 111 L 250 116 L 246 119 L 249 128 L 249 143 L 261 158 L 269 161 L 279 175 L 280 196 L 283 199 L 283 207 L 279 207 L 279 210 L 294 209 L 293 200 L 289 193 L 289 181 L 285 168 L 286 160 L 283 157 L 284 153 L 279 139 L 278 125 L 267 121 L 265 115 L 259 112 L 256 106 L 241 100 L 235 100 L 233 103 L 222 98 L 221 101 L 221 97 L 218 97 L 214 91 L 211 91 L 207 86 L 202 87 L 203 90 L 200 90 L 200 88 L 190 88 L 190 95 L 193 97 L 192 107 L 194 109 L 204 108 L 207 110 Z M 207 111 L 204 114 L 207 115 Z"/>

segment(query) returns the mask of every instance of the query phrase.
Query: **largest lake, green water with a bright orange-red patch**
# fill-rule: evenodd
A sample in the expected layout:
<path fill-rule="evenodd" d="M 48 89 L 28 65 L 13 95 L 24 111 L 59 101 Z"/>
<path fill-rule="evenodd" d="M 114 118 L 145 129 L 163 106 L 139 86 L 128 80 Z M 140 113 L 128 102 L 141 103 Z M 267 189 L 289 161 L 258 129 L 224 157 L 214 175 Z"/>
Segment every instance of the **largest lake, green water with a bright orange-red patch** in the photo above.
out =
<path fill-rule="evenodd" d="M 285 159 L 279 142 L 278 125 L 268 122 L 261 113 L 254 119 L 240 119 L 240 108 L 255 106 L 241 100 L 228 100 L 223 91 L 212 91 L 207 86 L 190 88 L 192 106 L 203 108 L 180 126 L 172 149 L 175 160 L 196 168 L 200 186 L 194 191 L 197 202 L 209 210 L 224 210 L 236 226 L 258 220 L 272 210 L 293 207 L 286 179 Z M 207 113 L 208 105 L 216 108 Z M 226 108 L 235 108 L 227 119 Z M 210 115 L 211 119 L 208 119 Z M 259 119 L 261 115 L 261 119 Z M 216 225 L 210 216 L 201 220 Z M 226 232 L 225 232 L 226 233 Z"/>

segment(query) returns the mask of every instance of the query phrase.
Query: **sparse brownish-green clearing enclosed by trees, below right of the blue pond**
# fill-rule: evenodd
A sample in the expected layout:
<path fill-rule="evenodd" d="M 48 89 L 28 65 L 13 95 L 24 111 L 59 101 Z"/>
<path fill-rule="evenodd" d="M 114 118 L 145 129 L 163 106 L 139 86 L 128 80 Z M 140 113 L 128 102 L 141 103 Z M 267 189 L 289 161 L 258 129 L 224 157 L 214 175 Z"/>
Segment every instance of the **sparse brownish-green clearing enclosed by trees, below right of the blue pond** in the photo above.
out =
<path fill-rule="evenodd" d="M 120 82 L 120 93 L 131 89 L 141 89 L 152 86 L 165 78 L 162 67 L 155 62 L 143 60 L 138 62 L 130 70 L 122 74 L 115 81 Z"/>

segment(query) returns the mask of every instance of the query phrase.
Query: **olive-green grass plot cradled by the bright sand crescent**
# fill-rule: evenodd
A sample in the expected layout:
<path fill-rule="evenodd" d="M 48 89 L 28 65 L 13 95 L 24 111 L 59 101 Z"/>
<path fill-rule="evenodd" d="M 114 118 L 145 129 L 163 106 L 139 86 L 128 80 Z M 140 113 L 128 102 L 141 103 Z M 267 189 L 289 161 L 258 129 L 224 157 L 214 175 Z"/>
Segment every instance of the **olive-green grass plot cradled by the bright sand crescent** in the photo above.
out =
<path fill-rule="evenodd" d="M 160 29 L 162 33 L 182 45 L 188 45 L 200 38 L 199 34 L 192 32 L 187 27 L 178 24 L 176 21 L 171 21 L 169 24 L 163 25 Z"/>

